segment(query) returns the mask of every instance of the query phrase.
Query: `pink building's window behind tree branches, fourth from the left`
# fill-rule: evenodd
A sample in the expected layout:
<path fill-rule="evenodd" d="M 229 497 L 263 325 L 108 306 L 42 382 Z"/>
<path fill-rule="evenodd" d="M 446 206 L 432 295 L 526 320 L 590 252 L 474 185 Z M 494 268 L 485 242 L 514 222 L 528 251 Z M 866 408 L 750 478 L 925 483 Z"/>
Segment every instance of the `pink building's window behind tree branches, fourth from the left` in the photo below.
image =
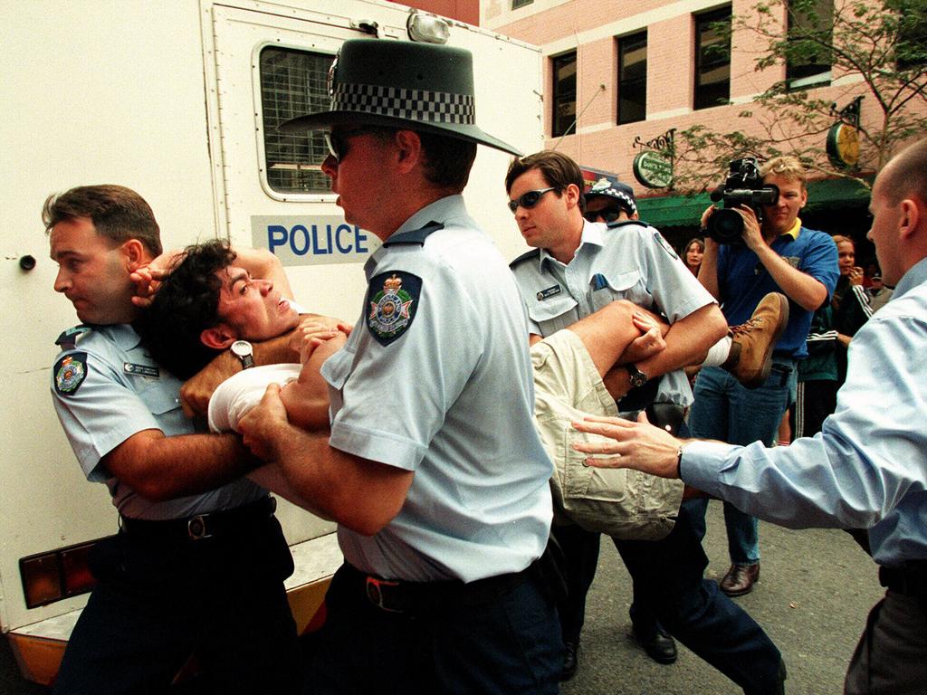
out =
<path fill-rule="evenodd" d="M 785 79 L 793 89 L 831 81 L 833 0 L 792 3 L 788 11 Z"/>

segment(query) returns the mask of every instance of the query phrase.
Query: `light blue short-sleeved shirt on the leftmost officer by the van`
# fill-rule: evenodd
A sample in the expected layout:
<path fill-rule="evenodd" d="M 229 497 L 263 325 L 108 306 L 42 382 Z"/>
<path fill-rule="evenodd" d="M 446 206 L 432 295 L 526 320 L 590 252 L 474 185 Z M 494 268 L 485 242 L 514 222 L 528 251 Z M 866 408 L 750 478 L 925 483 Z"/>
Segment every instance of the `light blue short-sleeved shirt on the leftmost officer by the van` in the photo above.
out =
<path fill-rule="evenodd" d="M 82 366 L 75 366 L 78 362 Z M 181 408 L 182 382 L 148 356 L 131 325 L 95 326 L 79 337 L 74 349 L 60 353 L 55 364 L 51 391 L 58 420 L 83 473 L 88 480 L 107 484 L 122 516 L 152 521 L 184 518 L 233 509 L 267 495 L 262 487 L 241 478 L 203 495 L 152 502 L 109 474 L 101 460 L 134 434 L 160 430 L 174 436 L 197 431 Z M 65 373 L 69 368 L 70 373 Z"/>

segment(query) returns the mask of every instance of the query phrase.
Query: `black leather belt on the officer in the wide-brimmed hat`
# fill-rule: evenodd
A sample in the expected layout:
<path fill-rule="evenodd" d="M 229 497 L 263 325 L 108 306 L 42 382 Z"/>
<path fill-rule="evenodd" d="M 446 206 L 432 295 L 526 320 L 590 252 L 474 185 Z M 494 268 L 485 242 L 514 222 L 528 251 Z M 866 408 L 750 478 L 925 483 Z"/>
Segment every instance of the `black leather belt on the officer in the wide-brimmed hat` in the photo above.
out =
<path fill-rule="evenodd" d="M 350 587 L 360 590 L 380 610 L 387 613 L 415 613 L 451 603 L 486 603 L 527 581 L 534 571 L 534 565 L 528 565 L 521 572 L 490 576 L 466 584 L 459 580 L 407 582 L 381 579 L 367 575 L 349 564 L 345 564 L 341 571 Z"/>

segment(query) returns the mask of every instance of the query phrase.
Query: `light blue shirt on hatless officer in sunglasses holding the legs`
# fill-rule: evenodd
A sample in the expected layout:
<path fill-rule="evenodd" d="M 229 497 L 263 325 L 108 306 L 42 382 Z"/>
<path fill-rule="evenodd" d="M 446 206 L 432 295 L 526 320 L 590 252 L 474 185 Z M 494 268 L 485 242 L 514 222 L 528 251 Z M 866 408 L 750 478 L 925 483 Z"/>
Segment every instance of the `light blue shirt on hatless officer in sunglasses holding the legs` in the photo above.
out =
<path fill-rule="evenodd" d="M 512 272 L 529 317 L 528 331 L 547 337 L 617 299 L 664 314 L 670 323 L 715 299 L 679 260 L 654 227 L 627 223 L 606 227 L 585 221 L 568 264 L 541 248 L 515 261 Z M 657 400 L 687 406 L 692 389 L 682 370 L 664 374 Z"/>

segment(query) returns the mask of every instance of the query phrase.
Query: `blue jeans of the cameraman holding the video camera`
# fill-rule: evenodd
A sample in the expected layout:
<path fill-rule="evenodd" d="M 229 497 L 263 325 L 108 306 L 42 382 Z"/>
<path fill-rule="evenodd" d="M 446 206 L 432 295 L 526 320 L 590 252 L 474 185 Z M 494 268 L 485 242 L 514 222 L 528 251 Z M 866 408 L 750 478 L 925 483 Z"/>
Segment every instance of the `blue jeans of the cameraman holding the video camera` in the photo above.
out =
<path fill-rule="evenodd" d="M 794 360 L 790 359 L 775 359 L 766 383 L 756 389 L 744 388 L 719 367 L 706 367 L 695 381 L 695 402 L 689 414 L 692 436 L 740 445 L 762 441 L 766 446 L 772 446 L 782 415 L 789 407 L 796 378 Z M 701 532 L 704 536 L 708 500 L 693 499 L 692 507 L 701 507 Z M 725 502 L 724 524 L 728 529 L 730 562 L 759 562 L 756 517 L 744 514 Z"/>

